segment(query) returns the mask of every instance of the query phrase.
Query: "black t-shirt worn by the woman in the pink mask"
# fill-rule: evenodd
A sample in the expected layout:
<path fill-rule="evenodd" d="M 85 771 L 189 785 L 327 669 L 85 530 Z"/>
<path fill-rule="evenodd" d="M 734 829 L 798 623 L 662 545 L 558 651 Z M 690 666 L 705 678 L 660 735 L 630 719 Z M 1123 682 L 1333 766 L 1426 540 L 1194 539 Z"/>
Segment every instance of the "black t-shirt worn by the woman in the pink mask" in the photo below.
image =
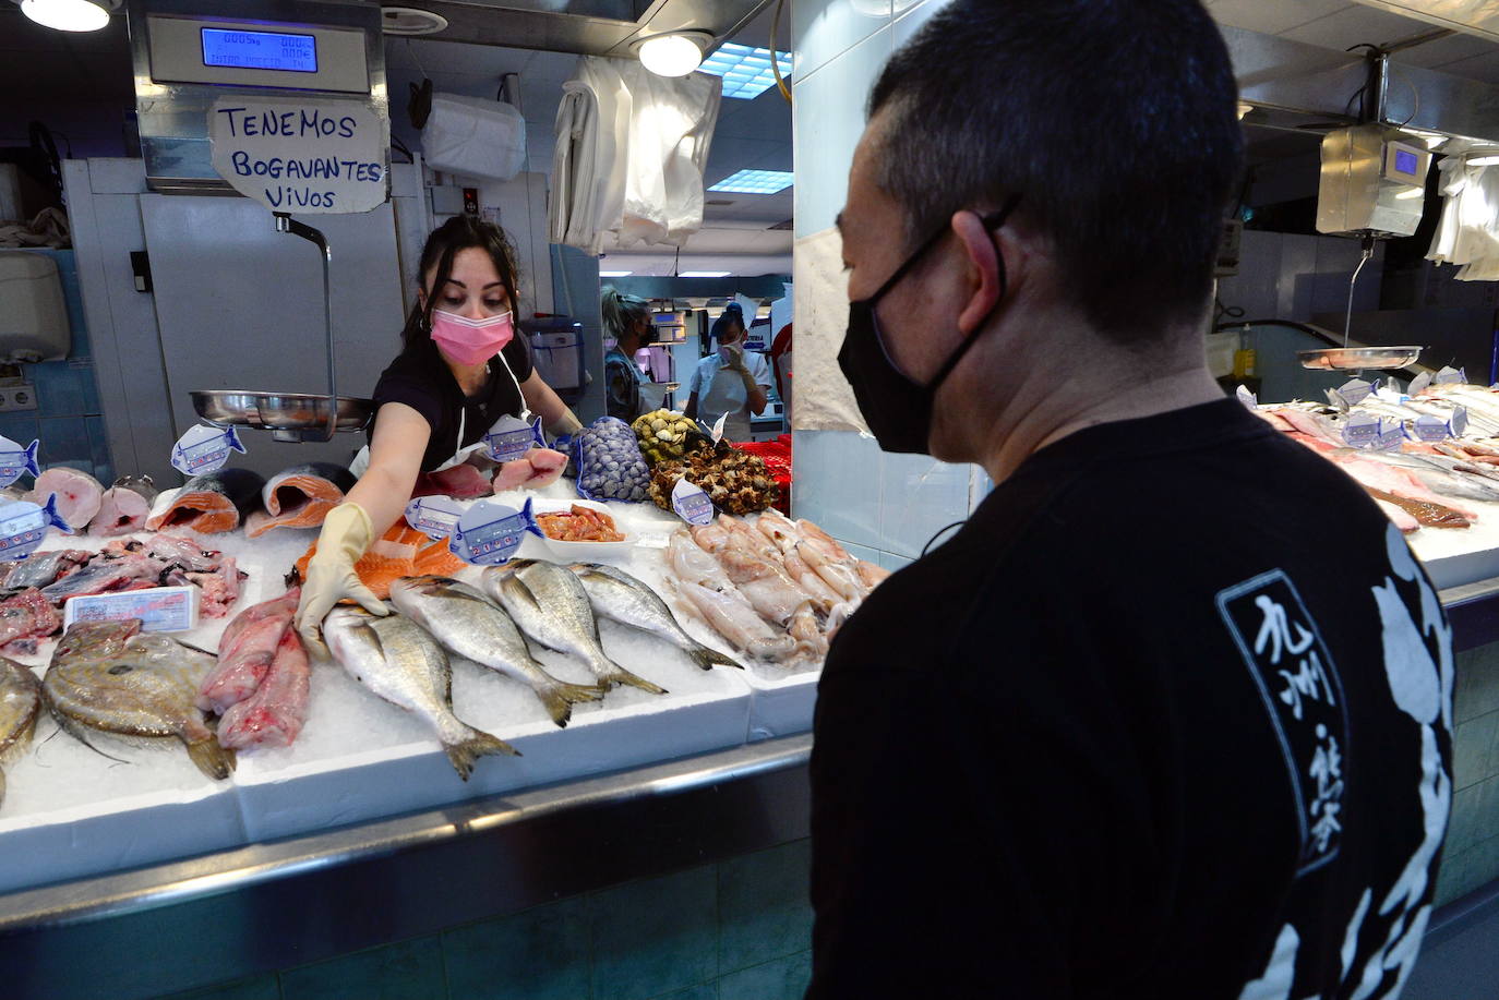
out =
<path fill-rule="evenodd" d="M 489 382 L 477 396 L 463 394 L 457 379 L 453 378 L 453 370 L 432 340 L 402 351 L 390 367 L 381 372 L 375 384 L 376 421 L 382 405 L 406 403 L 432 427 L 427 450 L 421 456 L 423 472 L 430 472 L 451 459 L 459 448 L 483 438 L 501 417 L 520 414 L 523 399 L 519 385 L 531 378 L 531 346 L 517 334 L 499 354 L 504 363 L 499 357 L 490 358 Z M 510 364 L 514 379 L 505 372 L 505 363 Z M 462 441 L 459 441 L 460 417 Z M 375 439 L 375 421 L 370 421 L 369 436 Z"/>

